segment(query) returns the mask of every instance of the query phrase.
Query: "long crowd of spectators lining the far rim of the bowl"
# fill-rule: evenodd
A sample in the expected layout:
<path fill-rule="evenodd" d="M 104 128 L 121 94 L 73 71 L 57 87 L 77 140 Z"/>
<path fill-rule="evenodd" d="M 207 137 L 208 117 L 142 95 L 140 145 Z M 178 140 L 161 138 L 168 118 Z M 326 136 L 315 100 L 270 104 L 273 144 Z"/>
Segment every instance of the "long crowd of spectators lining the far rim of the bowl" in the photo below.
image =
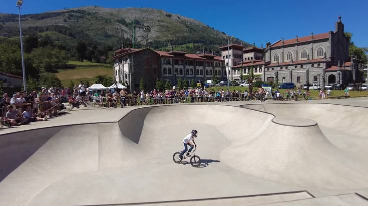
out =
<path fill-rule="evenodd" d="M 267 91 L 263 88 L 258 88 L 256 91 L 248 92 L 245 90 L 224 90 L 224 89 L 167 89 L 160 91 L 157 89 L 145 92 L 133 91 L 128 94 L 126 89 L 108 90 L 108 91 L 93 91 L 87 93 L 87 99 L 94 102 L 98 106 L 107 108 L 116 108 L 135 105 L 152 105 L 152 104 L 172 104 L 172 103 L 193 103 L 193 102 L 224 102 L 224 101 L 251 101 L 265 100 L 274 101 L 298 101 L 299 99 L 310 99 L 308 90 L 302 92 L 300 89 L 285 90 L 281 93 L 279 90 Z"/>

